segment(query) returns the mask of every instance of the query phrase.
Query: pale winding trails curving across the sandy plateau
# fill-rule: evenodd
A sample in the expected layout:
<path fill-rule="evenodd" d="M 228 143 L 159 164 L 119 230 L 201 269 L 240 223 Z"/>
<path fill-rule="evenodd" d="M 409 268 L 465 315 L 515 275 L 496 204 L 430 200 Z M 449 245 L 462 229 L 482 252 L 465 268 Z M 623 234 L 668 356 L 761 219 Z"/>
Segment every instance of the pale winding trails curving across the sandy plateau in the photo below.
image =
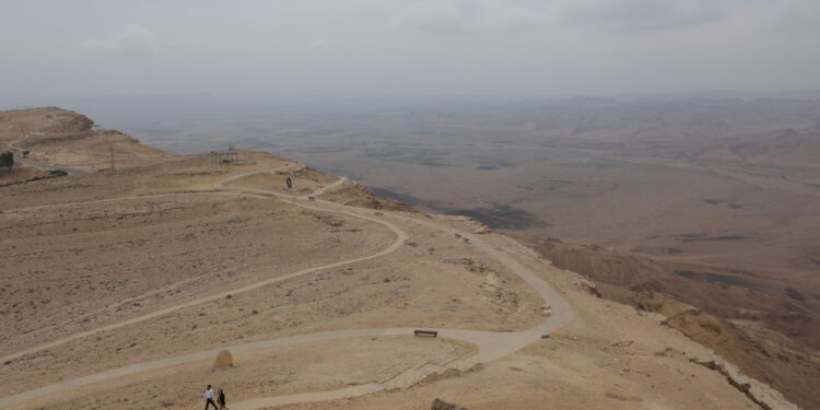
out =
<path fill-rule="evenodd" d="M 336 187 L 341 186 L 342 184 L 347 181 L 347 178 L 339 178 L 335 183 L 328 186 L 321 187 L 307 196 L 291 196 L 291 195 L 286 195 L 282 192 L 276 192 L 276 191 L 256 189 L 256 188 L 234 189 L 234 188 L 225 187 L 226 184 L 230 184 L 232 181 L 242 179 L 250 175 L 292 169 L 293 166 L 294 165 L 285 165 L 279 168 L 259 169 L 259 171 L 253 171 L 253 172 L 231 176 L 226 179 L 223 179 L 214 184 L 214 189 L 220 190 L 219 192 L 210 192 L 210 194 L 238 195 L 238 196 L 248 196 L 248 197 L 254 197 L 254 198 L 277 197 L 280 200 L 286 203 L 293 204 L 295 207 L 315 210 L 315 211 L 323 211 L 323 212 L 336 212 L 336 213 L 344 214 L 348 216 L 358 218 L 358 219 L 370 221 L 370 222 L 375 222 L 390 230 L 396 235 L 396 238 L 393 241 L 393 243 L 388 247 L 370 256 L 364 256 L 364 257 L 348 259 L 348 260 L 343 260 L 339 262 L 318 266 L 318 267 L 314 267 L 309 269 L 304 269 L 298 272 L 290 273 L 290 274 L 278 277 L 278 278 L 271 278 L 268 280 L 263 280 L 260 282 L 246 285 L 246 286 L 195 298 L 183 304 L 165 307 L 163 309 L 160 309 L 150 314 L 141 315 L 138 317 L 133 317 L 128 320 L 107 325 L 107 326 L 92 329 L 89 331 L 84 331 L 81 333 L 71 335 L 71 336 L 51 341 L 46 344 L 40 344 L 40 345 L 34 347 L 24 351 L 15 352 L 7 356 L 0 358 L 0 361 L 17 359 L 24 354 L 34 353 L 34 352 L 42 351 L 48 348 L 54 348 L 56 345 L 66 343 L 68 341 L 77 340 L 77 339 L 87 337 L 87 336 L 91 336 L 101 331 L 117 329 L 122 326 L 133 325 L 133 324 L 141 323 L 151 318 L 155 318 L 157 316 L 166 315 L 168 313 L 173 313 L 175 311 L 178 311 L 185 307 L 190 307 L 190 306 L 195 306 L 198 304 L 221 300 L 221 298 L 224 298 L 227 294 L 237 294 L 242 292 L 248 292 L 255 289 L 259 289 L 259 288 L 262 288 L 262 286 L 276 283 L 276 282 L 293 279 L 300 276 L 304 276 L 304 274 L 308 274 L 308 273 L 313 273 L 313 272 L 317 272 L 317 271 L 321 271 L 326 269 L 338 268 L 338 267 L 342 267 L 345 265 L 355 263 L 355 262 L 360 262 L 363 260 L 375 259 L 375 258 L 379 258 L 379 257 L 393 254 L 396 250 L 398 250 L 401 247 L 401 245 L 405 244 L 405 242 L 408 238 L 408 234 L 405 231 L 402 231 L 400 227 L 395 225 L 394 223 L 389 222 L 389 220 L 415 223 L 415 224 L 419 224 L 429 229 L 445 232 L 449 235 L 456 235 L 456 234 L 460 235 L 462 238 L 466 238 L 467 241 L 469 241 L 472 246 L 475 246 L 476 248 L 478 248 L 479 250 L 488 255 L 491 255 L 492 257 L 497 259 L 501 263 L 503 263 L 506 268 L 513 271 L 515 274 L 520 277 L 541 296 L 541 298 L 547 304 L 551 306 L 551 315 L 549 318 L 547 318 L 543 323 L 539 324 L 538 326 L 535 326 L 530 329 L 522 330 L 522 331 L 492 332 L 492 331 L 479 331 L 479 330 L 467 330 L 467 329 L 425 328 L 429 330 L 438 331 L 438 337 L 441 338 L 462 340 L 462 341 L 477 345 L 478 353 L 475 355 L 475 358 L 472 358 L 471 363 L 488 363 L 488 362 L 492 362 L 494 360 L 501 359 L 540 339 L 542 335 L 549 335 L 566 326 L 573 320 L 574 314 L 570 305 L 547 282 L 538 278 L 534 272 L 531 272 L 528 268 L 526 268 L 520 262 L 518 262 L 515 258 L 500 250 L 499 248 L 496 248 L 495 246 L 491 245 L 490 243 L 485 242 L 484 239 L 482 239 L 481 237 L 477 235 L 462 232 L 452 226 L 435 223 L 432 221 L 421 220 L 418 218 L 405 215 L 405 214 L 397 213 L 397 212 L 380 211 L 380 216 L 376 218 L 374 216 L 374 212 L 372 210 L 344 206 L 344 204 L 340 204 L 340 203 L 336 203 L 336 202 L 331 202 L 327 200 L 314 199 L 318 195 L 325 194 L 331 189 L 335 189 Z M 206 194 L 206 192 L 191 192 L 191 194 L 180 194 L 180 195 L 202 195 L 202 194 Z M 134 198 L 145 198 L 145 197 L 134 197 Z M 259 350 L 259 349 L 268 349 L 268 348 L 279 347 L 279 345 L 305 343 L 305 342 L 321 341 L 321 340 L 333 340 L 333 339 L 341 339 L 341 338 L 352 338 L 352 337 L 361 337 L 361 336 L 400 335 L 400 336 L 411 337 L 414 330 L 415 328 L 374 328 L 374 329 L 323 331 L 323 332 L 315 332 L 315 333 L 297 335 L 297 336 L 285 337 L 285 338 L 262 340 L 262 341 L 250 342 L 250 343 L 239 343 L 239 344 L 234 344 L 234 345 L 229 345 L 229 347 L 220 347 L 218 349 L 177 355 L 177 356 L 157 360 L 153 362 L 132 364 L 129 366 L 124 366 L 124 367 L 114 368 L 110 371 L 105 371 L 105 372 L 101 372 L 101 373 L 96 373 L 96 374 L 92 374 L 92 375 L 87 375 L 83 377 L 77 377 L 77 378 L 55 383 L 51 385 L 43 386 L 34 390 L 25 391 L 22 394 L 10 396 L 10 397 L 0 398 L 0 406 L 10 406 L 13 403 L 19 403 L 22 401 L 44 397 L 44 396 L 55 394 L 55 393 L 77 389 L 82 386 L 108 380 L 114 377 L 124 377 L 124 376 L 141 373 L 145 371 L 157 370 L 157 368 L 163 368 L 167 366 L 173 366 L 173 365 L 183 364 L 183 363 L 190 363 L 190 362 L 196 362 L 196 361 L 201 361 L 201 360 L 208 360 L 208 359 L 215 356 L 215 354 L 223 349 L 230 349 L 234 353 L 242 353 L 242 352 L 254 351 L 254 350 Z M 419 374 L 419 372 L 417 372 L 414 376 L 417 378 L 420 376 L 423 377 L 424 374 L 423 373 Z M 411 380 L 410 383 L 412 384 L 413 382 Z M 397 385 L 397 387 L 403 387 L 403 386 Z M 380 391 L 384 389 L 386 389 L 385 384 L 374 382 L 374 383 L 368 383 L 368 384 L 364 384 L 360 386 L 342 388 L 338 390 L 317 391 L 317 393 L 311 393 L 311 394 L 290 395 L 290 396 L 277 396 L 277 397 L 268 397 L 268 398 L 254 398 L 254 399 L 248 399 L 245 401 L 233 403 L 231 408 L 234 410 L 256 410 L 256 409 L 260 409 L 265 407 L 279 406 L 279 405 L 285 405 L 285 403 L 321 401 L 321 400 L 331 400 L 331 399 L 339 399 L 339 398 L 347 398 L 347 397 L 355 397 L 355 396 L 372 394 L 375 391 Z"/>

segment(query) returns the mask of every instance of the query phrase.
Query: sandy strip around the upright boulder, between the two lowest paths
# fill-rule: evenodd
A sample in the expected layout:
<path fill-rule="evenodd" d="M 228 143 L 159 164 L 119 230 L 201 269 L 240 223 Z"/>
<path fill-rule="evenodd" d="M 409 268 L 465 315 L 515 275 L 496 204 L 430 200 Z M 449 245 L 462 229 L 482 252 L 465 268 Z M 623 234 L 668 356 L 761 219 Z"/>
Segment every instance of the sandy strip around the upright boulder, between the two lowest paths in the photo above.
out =
<path fill-rule="evenodd" d="M 40 403 L 49 409 L 187 409 L 192 402 L 199 406 L 199 390 L 207 384 L 234 397 L 321 391 L 388 377 L 422 360 L 444 363 L 471 351 L 459 342 L 402 337 L 312 342 L 237 354 L 234 366 L 224 370 L 212 370 L 213 360 L 207 360 L 144 372 Z"/>

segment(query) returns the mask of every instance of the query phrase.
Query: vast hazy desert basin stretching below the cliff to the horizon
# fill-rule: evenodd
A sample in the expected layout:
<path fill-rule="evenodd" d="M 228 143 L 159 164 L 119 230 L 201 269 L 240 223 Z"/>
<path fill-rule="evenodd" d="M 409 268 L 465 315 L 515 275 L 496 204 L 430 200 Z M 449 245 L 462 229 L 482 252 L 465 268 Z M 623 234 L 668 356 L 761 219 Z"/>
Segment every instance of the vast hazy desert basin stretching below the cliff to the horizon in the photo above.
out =
<path fill-rule="evenodd" d="M 803 406 L 820 402 L 818 99 L 116 99 L 142 117 L 103 102 L 73 104 L 179 154 L 271 151 L 473 218 L 613 301 L 683 302 L 717 320 L 701 342 Z M 194 103 L 196 114 L 173 108 Z"/>

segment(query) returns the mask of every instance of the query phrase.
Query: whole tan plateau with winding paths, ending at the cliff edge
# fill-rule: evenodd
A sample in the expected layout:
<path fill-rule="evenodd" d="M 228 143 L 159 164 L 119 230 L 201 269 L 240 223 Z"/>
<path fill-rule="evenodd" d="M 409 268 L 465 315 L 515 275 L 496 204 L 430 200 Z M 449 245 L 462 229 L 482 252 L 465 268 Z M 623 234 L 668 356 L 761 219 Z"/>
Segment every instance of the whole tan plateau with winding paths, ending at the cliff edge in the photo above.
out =
<path fill-rule="evenodd" d="M 0 114 L 0 143 L 37 133 L 34 165 L 84 172 L 0 188 L 3 408 L 194 409 L 207 384 L 231 409 L 797 408 L 653 313 L 669 303 L 601 298 L 473 219 L 92 125 Z"/>

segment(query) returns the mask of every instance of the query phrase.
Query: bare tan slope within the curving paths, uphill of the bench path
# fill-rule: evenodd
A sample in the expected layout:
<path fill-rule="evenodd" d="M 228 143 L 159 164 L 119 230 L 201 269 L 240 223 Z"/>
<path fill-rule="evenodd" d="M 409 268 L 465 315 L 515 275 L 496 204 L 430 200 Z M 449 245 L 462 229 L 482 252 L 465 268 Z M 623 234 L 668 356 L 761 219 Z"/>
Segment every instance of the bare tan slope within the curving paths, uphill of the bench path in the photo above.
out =
<path fill-rule="evenodd" d="M 0 220 L 8 233 L 4 257 L 14 261 L 14 269 L 3 272 L 10 283 L 2 288 L 3 312 L 11 318 L 3 333 L 14 337 L 4 341 L 4 353 L 202 293 L 374 253 L 390 241 L 384 229 L 361 220 L 278 201 L 215 192 L 147 195 L 140 180 L 132 186 L 143 195 L 79 203 L 68 197 L 20 208 L 10 201 Z M 16 376 L 2 389 L 21 391 L 134 360 L 196 351 L 210 347 L 213 333 L 230 344 L 374 326 L 520 329 L 540 318 L 535 294 L 497 262 L 442 233 L 406 230 L 409 245 L 377 261 L 186 307 L 13 360 L 2 372 Z M 422 265 L 411 263 L 422 257 Z M 42 296 L 32 303 L 34 294 Z M 153 330 L 145 332 L 147 325 Z M 50 372 L 55 365 L 63 371 Z"/>

